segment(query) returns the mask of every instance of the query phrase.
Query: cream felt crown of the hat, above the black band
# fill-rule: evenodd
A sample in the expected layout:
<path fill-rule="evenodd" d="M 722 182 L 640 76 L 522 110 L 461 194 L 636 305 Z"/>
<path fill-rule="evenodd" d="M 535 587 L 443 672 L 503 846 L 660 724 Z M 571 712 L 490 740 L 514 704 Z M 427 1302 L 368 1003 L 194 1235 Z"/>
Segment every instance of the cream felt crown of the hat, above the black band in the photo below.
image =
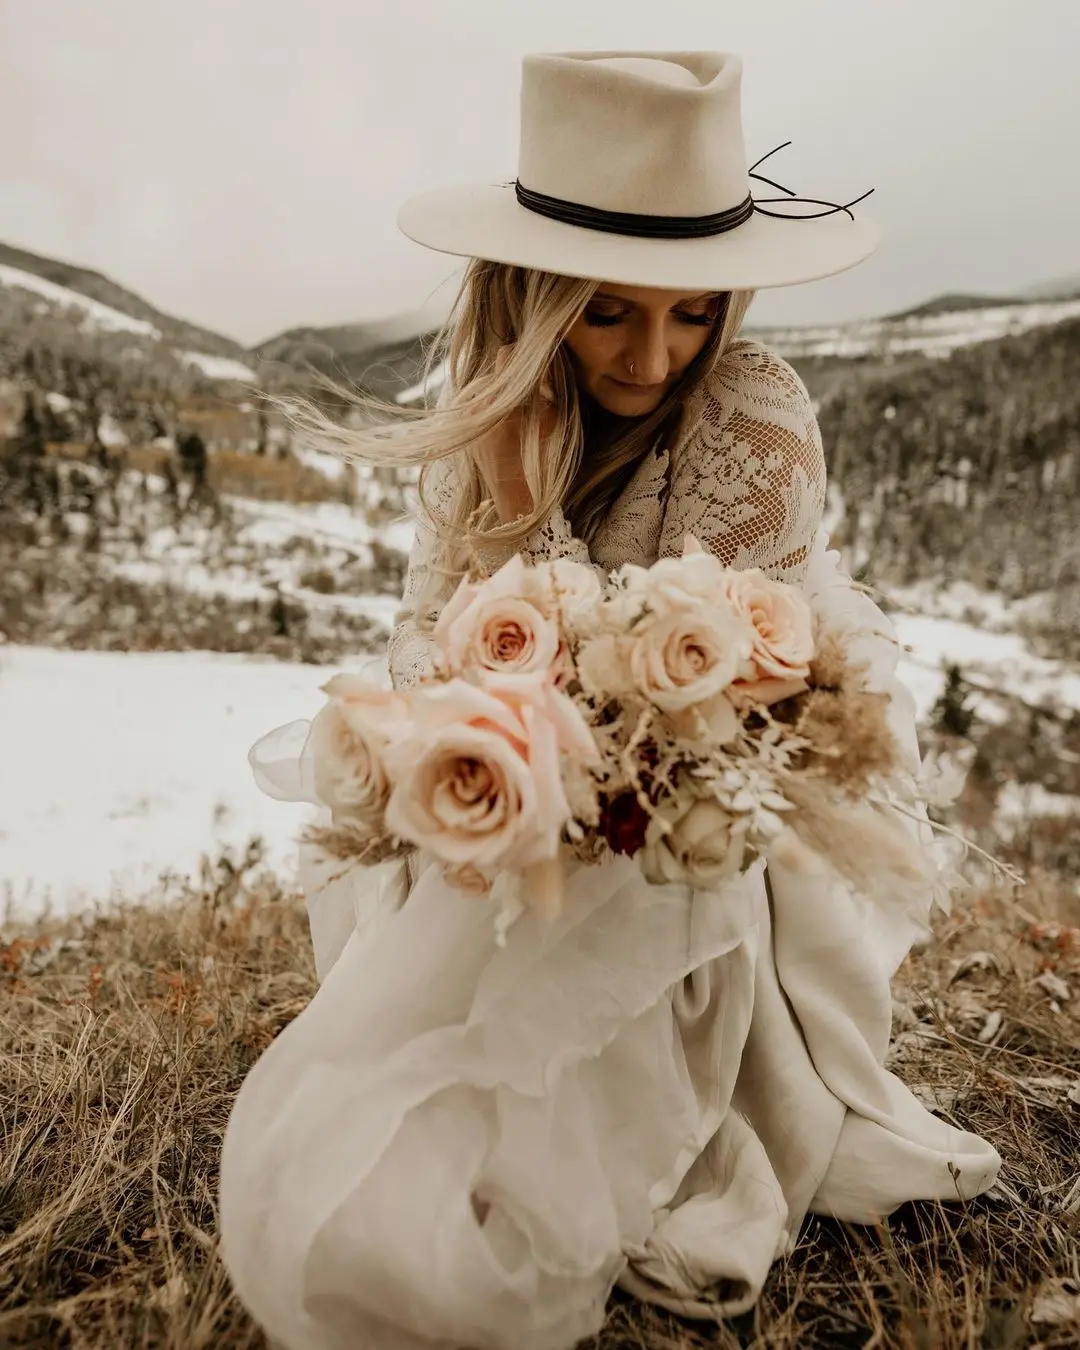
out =
<path fill-rule="evenodd" d="M 522 61 L 518 181 L 601 211 L 709 216 L 747 200 L 733 53 L 539 53 Z"/>

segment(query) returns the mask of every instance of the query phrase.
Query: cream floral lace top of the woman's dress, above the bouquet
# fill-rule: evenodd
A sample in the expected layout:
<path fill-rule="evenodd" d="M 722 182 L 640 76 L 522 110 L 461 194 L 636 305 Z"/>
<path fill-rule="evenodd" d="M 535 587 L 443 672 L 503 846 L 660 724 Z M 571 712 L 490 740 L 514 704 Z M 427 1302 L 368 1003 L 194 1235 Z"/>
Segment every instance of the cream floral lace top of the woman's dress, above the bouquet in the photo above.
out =
<path fill-rule="evenodd" d="M 691 533 L 730 567 L 760 567 L 776 580 L 802 582 L 825 509 L 825 456 L 810 396 L 791 366 L 763 343 L 732 343 L 684 427 L 679 444 L 641 460 L 591 554 L 556 508 L 525 541 L 525 560 L 571 558 L 610 571 L 624 563 L 647 567 L 680 554 Z M 439 460 L 428 489 L 437 509 L 448 509 L 455 486 L 454 458 Z M 424 624 L 437 618 L 456 586 L 448 579 L 428 613 L 417 613 L 436 543 L 421 514 L 387 645 L 397 688 L 431 668 Z"/>

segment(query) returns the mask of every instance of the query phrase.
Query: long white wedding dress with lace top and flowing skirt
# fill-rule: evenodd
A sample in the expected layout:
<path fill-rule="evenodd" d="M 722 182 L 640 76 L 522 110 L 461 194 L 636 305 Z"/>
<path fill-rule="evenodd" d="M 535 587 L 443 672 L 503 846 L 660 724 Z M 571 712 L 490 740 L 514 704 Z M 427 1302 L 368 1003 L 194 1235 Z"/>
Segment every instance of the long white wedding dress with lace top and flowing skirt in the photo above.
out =
<path fill-rule="evenodd" d="M 891 625 L 826 551 L 824 483 L 805 387 L 738 342 L 591 558 L 558 510 L 525 552 L 612 568 L 678 554 L 688 531 L 802 583 L 860 634 L 917 759 Z M 421 524 L 397 684 L 427 663 L 429 548 Z M 274 795 L 310 795 L 302 729 L 252 752 Z M 871 1223 L 995 1180 L 995 1150 L 883 1068 L 890 980 L 929 895 L 911 914 L 828 868 L 760 861 L 694 891 L 617 859 L 571 865 L 562 917 L 526 914 L 498 946 L 490 907 L 423 859 L 339 869 L 304 855 L 320 988 L 254 1065 L 221 1154 L 223 1256 L 279 1347 L 568 1350 L 616 1282 L 730 1316 L 807 1212 Z"/>

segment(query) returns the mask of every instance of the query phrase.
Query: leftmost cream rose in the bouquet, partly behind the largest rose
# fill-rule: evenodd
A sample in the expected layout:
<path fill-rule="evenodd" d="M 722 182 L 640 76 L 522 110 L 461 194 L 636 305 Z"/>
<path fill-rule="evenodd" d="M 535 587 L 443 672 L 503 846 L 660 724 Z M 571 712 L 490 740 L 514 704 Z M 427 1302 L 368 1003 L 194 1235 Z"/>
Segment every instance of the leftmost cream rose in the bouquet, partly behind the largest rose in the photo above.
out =
<path fill-rule="evenodd" d="M 316 795 L 335 824 L 378 833 L 392 786 L 383 755 L 410 729 L 408 701 L 359 675 L 335 675 L 323 693 L 308 737 Z"/>

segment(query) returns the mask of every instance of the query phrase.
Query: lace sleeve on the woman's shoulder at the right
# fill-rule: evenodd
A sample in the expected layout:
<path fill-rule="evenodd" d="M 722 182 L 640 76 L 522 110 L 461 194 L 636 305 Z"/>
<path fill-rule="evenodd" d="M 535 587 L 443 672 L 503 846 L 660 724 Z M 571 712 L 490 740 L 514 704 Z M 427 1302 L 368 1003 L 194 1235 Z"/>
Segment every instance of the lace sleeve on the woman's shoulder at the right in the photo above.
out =
<path fill-rule="evenodd" d="M 671 467 L 660 556 L 694 535 L 726 566 L 802 583 L 825 510 L 825 456 L 806 386 L 757 342 L 732 344 Z"/>

